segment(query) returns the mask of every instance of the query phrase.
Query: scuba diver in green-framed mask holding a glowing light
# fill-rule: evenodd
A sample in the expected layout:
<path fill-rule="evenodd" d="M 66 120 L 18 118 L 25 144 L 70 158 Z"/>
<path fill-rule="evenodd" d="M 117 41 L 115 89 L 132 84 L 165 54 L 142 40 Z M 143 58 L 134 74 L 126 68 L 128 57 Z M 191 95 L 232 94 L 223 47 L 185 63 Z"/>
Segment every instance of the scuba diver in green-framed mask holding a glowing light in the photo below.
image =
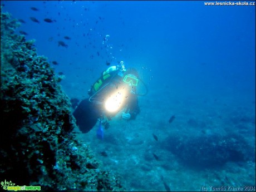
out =
<path fill-rule="evenodd" d="M 123 119 L 135 119 L 140 112 L 137 100 L 139 94 L 136 93 L 138 83 L 139 74 L 135 68 L 126 70 L 123 61 L 120 65 L 107 68 L 88 90 L 89 97 L 82 100 L 73 112 L 80 131 L 87 133 L 100 120 L 97 136 L 102 139 L 101 121 L 104 116 L 111 120 L 111 117 L 124 110 Z M 105 128 L 109 126 L 107 121 L 104 124 Z"/>

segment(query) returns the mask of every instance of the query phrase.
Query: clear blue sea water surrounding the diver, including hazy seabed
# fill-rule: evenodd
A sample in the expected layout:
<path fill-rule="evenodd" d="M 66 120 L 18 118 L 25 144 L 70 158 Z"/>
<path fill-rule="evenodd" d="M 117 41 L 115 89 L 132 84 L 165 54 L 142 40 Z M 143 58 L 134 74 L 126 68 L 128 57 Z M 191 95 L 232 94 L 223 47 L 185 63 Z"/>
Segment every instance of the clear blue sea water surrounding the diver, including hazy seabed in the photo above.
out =
<path fill-rule="evenodd" d="M 27 40 L 36 40 L 38 55 L 59 63 L 51 66 L 65 75 L 61 85 L 70 98 L 87 98 L 87 90 L 108 67 L 107 61 L 116 65 L 122 60 L 126 67 L 137 68 L 149 93 L 139 97 L 141 113 L 136 120 L 110 121 L 104 142 L 95 139 L 96 128 L 81 135 L 93 150 L 109 154 L 99 155 L 99 159 L 107 169 L 124 177 L 128 190 L 165 190 L 161 175 L 171 190 L 201 190 L 203 185 L 255 186 L 255 158 L 238 165 L 232 157 L 234 161 L 225 159 L 218 170 L 194 170 L 184 162 L 184 155 L 166 146 L 166 142 L 188 142 L 203 147 L 188 138 L 206 137 L 212 150 L 221 141 L 215 144 L 209 138 L 221 135 L 223 140 L 238 140 L 233 147 L 255 155 L 255 6 L 205 6 L 203 1 L 1 4 L 3 11 L 26 21 L 18 31 L 27 32 Z M 56 22 L 47 23 L 45 18 Z M 58 41 L 68 47 L 58 46 Z M 172 115 L 176 118 L 169 124 Z M 159 161 L 150 156 L 152 153 L 159 155 Z"/>

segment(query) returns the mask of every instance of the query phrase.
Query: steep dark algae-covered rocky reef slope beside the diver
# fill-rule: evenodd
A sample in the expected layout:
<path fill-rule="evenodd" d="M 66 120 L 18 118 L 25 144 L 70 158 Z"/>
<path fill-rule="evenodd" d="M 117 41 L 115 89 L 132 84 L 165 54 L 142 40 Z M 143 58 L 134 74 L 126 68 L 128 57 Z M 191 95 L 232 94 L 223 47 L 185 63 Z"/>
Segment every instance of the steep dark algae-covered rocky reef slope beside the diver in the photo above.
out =
<path fill-rule="evenodd" d="M 1 10 L 0 180 L 43 191 L 124 190 L 77 139 L 59 79 L 34 41 L 17 35 L 19 24 Z"/>

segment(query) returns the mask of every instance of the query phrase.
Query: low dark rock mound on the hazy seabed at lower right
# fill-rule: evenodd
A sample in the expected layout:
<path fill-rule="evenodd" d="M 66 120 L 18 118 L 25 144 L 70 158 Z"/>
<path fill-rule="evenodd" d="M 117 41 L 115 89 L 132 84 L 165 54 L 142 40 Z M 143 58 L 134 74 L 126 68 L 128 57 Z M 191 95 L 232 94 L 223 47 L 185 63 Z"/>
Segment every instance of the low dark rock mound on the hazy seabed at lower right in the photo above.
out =
<path fill-rule="evenodd" d="M 236 134 L 171 135 L 163 146 L 185 165 L 199 169 L 219 168 L 229 161 L 255 161 L 253 146 Z"/>

